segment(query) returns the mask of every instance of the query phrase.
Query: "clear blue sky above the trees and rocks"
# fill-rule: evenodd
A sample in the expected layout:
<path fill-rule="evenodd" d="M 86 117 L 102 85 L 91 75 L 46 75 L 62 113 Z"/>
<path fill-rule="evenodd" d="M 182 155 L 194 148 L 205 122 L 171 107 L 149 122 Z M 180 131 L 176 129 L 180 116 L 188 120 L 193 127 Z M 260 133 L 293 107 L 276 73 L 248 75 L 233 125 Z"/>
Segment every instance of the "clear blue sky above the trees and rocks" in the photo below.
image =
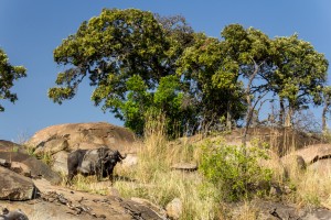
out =
<path fill-rule="evenodd" d="M 254 26 L 270 37 L 298 33 L 331 61 L 330 0 L 0 0 L 0 47 L 12 65 L 28 68 L 28 77 L 17 81 L 12 89 L 19 100 L 14 105 L 0 100 L 6 108 L 0 113 L 0 139 L 19 142 L 60 123 L 107 121 L 122 124 L 109 112 L 94 107 L 89 99 L 92 88 L 87 84 L 62 106 L 46 96 L 62 70 L 53 62 L 53 50 L 75 33 L 83 21 L 98 15 L 103 8 L 181 14 L 196 32 L 215 37 L 231 23 Z M 320 112 L 319 109 L 314 111 Z"/>

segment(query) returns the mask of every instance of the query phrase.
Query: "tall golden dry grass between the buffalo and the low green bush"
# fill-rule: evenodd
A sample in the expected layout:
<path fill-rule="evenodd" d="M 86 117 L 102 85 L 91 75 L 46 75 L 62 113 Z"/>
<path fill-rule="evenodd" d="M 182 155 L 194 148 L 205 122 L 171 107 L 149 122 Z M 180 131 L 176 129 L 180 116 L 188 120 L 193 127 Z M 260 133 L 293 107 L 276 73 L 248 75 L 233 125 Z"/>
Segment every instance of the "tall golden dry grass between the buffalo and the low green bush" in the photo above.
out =
<path fill-rule="evenodd" d="M 216 189 L 206 187 L 199 173 L 171 169 L 173 163 L 194 162 L 197 148 L 168 141 L 164 124 L 162 114 L 147 120 L 145 142 L 138 152 L 139 164 L 131 173 L 136 182 L 116 182 L 115 187 L 124 197 L 145 198 L 162 208 L 179 198 L 183 204 L 181 219 L 218 219 Z"/>

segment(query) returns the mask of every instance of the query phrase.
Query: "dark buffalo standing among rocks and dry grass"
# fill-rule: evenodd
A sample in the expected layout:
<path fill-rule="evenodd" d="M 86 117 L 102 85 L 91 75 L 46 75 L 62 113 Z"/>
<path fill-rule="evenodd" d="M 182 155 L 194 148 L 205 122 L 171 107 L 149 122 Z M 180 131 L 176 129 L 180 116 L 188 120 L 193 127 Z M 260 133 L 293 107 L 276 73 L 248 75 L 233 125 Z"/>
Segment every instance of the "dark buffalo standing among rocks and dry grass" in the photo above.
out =
<path fill-rule="evenodd" d="M 96 175 L 97 179 L 109 177 L 113 183 L 114 167 L 118 162 L 125 160 L 117 150 L 100 147 L 94 150 L 76 150 L 68 154 L 67 157 L 67 184 L 78 173 L 84 176 Z"/>

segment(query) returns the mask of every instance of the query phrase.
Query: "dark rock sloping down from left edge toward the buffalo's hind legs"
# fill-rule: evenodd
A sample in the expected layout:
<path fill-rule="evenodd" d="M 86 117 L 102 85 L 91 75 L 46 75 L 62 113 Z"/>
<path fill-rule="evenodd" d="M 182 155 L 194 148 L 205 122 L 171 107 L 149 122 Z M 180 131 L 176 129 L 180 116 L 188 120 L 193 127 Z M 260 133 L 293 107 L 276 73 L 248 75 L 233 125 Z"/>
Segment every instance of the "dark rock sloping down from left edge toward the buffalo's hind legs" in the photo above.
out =
<path fill-rule="evenodd" d="M 0 152 L 0 158 L 26 165 L 31 170 L 32 177 L 44 177 L 53 184 L 58 184 L 62 180 L 60 175 L 53 172 L 50 166 L 28 154 L 20 152 Z"/>

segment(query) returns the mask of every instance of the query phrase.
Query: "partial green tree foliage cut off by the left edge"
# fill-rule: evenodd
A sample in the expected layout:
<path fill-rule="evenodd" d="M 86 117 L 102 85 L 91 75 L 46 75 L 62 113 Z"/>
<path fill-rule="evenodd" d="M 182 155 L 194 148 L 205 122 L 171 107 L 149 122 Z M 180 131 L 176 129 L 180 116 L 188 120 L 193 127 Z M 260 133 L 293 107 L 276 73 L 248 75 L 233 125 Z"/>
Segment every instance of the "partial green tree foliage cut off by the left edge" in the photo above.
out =
<path fill-rule="evenodd" d="M 14 80 L 26 76 L 25 72 L 26 69 L 23 66 L 12 66 L 4 51 L 0 48 L 0 99 L 8 99 L 11 102 L 18 100 L 17 94 L 10 89 Z M 1 105 L 0 111 L 4 111 Z"/>

